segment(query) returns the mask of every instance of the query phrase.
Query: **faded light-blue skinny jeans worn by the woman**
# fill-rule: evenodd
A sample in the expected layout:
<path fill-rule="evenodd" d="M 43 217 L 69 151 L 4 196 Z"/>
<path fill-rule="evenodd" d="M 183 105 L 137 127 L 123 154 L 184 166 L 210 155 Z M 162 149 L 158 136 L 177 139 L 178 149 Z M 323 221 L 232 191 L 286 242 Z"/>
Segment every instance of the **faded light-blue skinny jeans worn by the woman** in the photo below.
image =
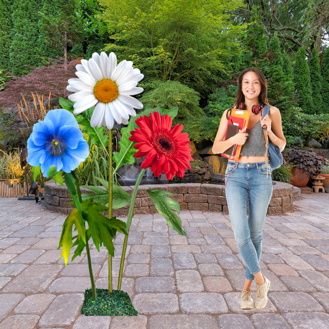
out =
<path fill-rule="evenodd" d="M 271 165 L 268 161 L 267 177 L 265 162 L 234 165 L 232 161 L 227 164 L 225 194 L 234 237 L 246 263 L 244 277 L 253 280 L 253 274 L 261 270 L 263 226 L 272 196 Z"/>

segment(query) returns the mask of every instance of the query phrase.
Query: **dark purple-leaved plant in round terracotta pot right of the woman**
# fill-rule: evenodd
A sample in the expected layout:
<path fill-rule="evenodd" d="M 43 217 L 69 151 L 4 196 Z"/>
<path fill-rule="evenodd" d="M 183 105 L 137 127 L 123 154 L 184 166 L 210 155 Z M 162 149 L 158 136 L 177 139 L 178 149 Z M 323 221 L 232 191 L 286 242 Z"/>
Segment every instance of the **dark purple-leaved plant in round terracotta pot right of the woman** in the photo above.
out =
<path fill-rule="evenodd" d="M 291 169 L 293 176 L 291 183 L 296 187 L 305 187 L 310 175 L 320 174 L 321 167 L 328 162 L 326 158 L 317 156 L 315 152 L 305 150 L 288 150 L 285 159 L 294 166 Z"/>

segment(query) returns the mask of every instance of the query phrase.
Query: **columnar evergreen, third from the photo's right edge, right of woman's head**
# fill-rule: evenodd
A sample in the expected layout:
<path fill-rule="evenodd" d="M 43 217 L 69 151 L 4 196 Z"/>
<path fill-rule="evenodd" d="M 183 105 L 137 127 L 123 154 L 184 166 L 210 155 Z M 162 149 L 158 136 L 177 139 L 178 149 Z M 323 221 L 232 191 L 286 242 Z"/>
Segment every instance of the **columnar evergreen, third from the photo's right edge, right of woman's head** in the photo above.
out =
<path fill-rule="evenodd" d="M 293 82 L 295 83 L 295 95 L 298 106 L 304 110 L 304 113 L 314 114 L 310 69 L 307 64 L 306 50 L 303 47 L 300 47 L 296 54 L 296 61 L 293 67 Z"/>

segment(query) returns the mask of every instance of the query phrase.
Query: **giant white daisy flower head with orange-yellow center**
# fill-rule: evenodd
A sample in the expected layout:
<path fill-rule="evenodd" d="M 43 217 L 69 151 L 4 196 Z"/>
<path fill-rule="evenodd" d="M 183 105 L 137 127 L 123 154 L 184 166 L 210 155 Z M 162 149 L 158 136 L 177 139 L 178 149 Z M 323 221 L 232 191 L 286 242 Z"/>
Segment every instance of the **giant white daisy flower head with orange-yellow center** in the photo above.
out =
<path fill-rule="evenodd" d="M 69 79 L 67 90 L 74 92 L 68 99 L 74 103 L 74 114 L 80 114 L 93 105 L 95 110 L 90 119 L 91 127 L 103 125 L 112 129 L 116 123 L 128 124 L 129 115 L 136 116 L 135 109 L 143 104 L 130 95 L 137 95 L 144 89 L 136 87 L 144 78 L 133 62 L 123 60 L 116 65 L 116 56 L 105 52 L 92 54 L 89 61 L 81 60 L 75 66 L 79 79 Z"/>

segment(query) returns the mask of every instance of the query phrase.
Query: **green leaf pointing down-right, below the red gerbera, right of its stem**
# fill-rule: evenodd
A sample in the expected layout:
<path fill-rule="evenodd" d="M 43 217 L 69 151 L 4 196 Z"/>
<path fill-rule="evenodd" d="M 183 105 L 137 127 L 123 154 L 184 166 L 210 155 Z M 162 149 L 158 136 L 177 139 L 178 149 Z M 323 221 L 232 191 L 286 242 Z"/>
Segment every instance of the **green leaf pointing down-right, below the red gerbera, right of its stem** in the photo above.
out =
<path fill-rule="evenodd" d="M 146 190 L 146 192 L 151 197 L 158 213 L 164 216 L 168 225 L 170 225 L 180 235 L 186 235 L 186 233 L 182 230 L 182 220 L 171 210 L 174 209 L 179 212 L 179 203 L 173 199 L 165 197 L 165 195 L 171 195 L 175 193 L 160 190 Z"/>

